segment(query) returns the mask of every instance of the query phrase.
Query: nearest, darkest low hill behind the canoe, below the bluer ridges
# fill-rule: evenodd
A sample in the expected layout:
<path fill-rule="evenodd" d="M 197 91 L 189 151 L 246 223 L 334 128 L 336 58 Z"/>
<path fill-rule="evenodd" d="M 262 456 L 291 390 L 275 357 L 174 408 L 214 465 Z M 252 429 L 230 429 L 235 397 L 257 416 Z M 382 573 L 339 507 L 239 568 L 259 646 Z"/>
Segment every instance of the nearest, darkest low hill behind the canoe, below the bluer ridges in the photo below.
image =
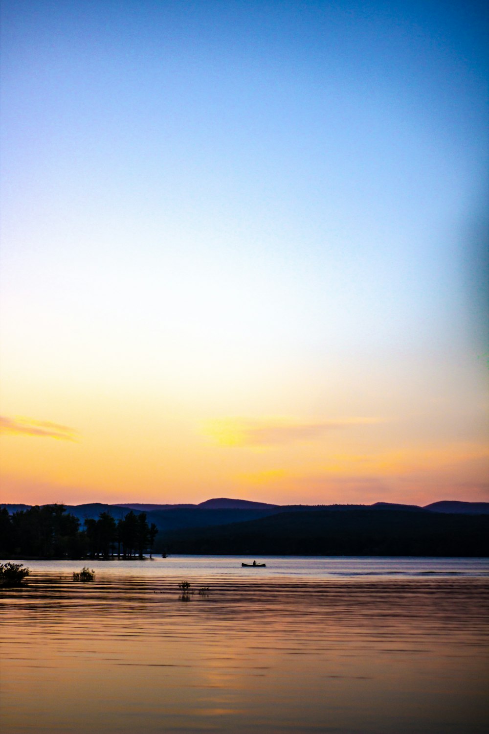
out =
<path fill-rule="evenodd" d="M 169 531 L 171 553 L 488 556 L 489 517 L 397 509 L 280 512 L 232 525 Z"/>

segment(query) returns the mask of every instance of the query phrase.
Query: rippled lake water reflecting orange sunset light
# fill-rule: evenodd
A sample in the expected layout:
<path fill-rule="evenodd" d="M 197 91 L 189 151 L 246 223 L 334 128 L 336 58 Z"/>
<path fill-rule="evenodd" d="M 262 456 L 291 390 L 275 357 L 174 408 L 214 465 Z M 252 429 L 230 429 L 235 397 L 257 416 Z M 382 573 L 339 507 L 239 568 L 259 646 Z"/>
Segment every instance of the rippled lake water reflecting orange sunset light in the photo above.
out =
<path fill-rule="evenodd" d="M 2 734 L 487 734 L 488 559 L 241 560 L 26 562 Z"/>

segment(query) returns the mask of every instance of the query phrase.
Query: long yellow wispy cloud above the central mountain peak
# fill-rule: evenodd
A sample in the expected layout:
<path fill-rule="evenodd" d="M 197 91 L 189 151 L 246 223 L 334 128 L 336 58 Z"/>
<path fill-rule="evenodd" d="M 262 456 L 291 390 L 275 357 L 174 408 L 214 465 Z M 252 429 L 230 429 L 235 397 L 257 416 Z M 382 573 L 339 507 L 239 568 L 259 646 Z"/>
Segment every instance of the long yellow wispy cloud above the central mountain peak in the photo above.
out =
<path fill-rule="evenodd" d="M 383 423 L 383 419 L 354 417 L 300 423 L 287 418 L 218 418 L 205 424 L 205 433 L 220 446 L 282 446 L 310 443 L 331 431 L 378 423 Z"/>

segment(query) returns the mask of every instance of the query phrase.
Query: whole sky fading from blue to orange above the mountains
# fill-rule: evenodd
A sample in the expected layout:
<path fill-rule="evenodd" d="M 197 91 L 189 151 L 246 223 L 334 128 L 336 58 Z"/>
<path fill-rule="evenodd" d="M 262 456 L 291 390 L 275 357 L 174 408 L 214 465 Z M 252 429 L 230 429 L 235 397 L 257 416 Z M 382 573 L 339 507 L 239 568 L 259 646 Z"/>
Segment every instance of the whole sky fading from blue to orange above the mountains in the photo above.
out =
<path fill-rule="evenodd" d="M 488 501 L 488 15 L 2 0 L 1 501 Z"/>

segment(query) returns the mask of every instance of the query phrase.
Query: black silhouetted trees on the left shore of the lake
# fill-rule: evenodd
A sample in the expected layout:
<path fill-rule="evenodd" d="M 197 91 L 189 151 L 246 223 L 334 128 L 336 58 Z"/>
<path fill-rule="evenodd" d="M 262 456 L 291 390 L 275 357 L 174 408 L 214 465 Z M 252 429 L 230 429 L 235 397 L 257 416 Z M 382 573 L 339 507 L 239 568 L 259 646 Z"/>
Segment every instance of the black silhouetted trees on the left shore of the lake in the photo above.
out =
<path fill-rule="evenodd" d="M 158 528 L 148 524 L 145 512 L 130 510 L 115 520 L 101 512 L 84 527 L 62 504 L 34 506 L 9 515 L 0 509 L 0 553 L 5 557 L 143 558 L 150 553 Z"/>

